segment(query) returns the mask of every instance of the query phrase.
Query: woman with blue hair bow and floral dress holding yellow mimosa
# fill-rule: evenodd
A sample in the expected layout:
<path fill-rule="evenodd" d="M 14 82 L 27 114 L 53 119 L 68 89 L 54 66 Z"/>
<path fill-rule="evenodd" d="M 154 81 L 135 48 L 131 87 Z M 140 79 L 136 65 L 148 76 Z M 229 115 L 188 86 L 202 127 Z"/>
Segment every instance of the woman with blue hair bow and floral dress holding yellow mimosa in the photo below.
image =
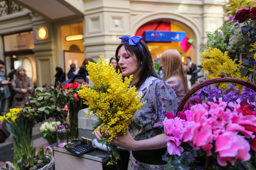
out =
<path fill-rule="evenodd" d="M 128 169 L 164 169 L 166 161 L 162 156 L 167 151 L 168 136 L 164 125 L 165 113 L 176 113 L 179 99 L 172 88 L 160 80 L 154 71 L 151 54 L 141 36 L 120 37 L 121 44 L 116 49 L 118 69 L 123 76 L 133 75 L 131 86 L 136 86 L 147 103 L 132 117 L 129 131 L 124 136 L 113 139 L 112 144 L 131 150 Z M 95 133 L 102 140 L 100 131 Z"/>

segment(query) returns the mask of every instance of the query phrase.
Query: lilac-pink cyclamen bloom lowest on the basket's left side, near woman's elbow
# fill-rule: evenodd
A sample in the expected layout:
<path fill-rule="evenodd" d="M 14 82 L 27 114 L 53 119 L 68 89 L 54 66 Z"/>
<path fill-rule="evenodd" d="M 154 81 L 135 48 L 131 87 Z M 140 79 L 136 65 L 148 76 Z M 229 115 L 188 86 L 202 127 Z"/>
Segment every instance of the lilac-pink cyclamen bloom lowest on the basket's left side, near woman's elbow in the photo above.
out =
<path fill-rule="evenodd" d="M 180 146 L 180 139 L 177 137 L 168 137 L 167 141 L 167 151 L 170 155 L 178 155 L 184 151 L 183 147 Z"/>

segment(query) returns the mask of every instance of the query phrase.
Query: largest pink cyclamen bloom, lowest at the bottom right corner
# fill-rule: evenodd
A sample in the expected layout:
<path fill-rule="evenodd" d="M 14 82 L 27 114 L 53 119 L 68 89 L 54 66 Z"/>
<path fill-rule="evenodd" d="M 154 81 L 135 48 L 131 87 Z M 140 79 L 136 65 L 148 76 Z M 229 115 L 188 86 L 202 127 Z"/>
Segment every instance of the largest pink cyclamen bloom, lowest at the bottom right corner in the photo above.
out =
<path fill-rule="evenodd" d="M 219 135 L 215 143 L 217 160 L 221 166 L 226 166 L 227 161 L 232 165 L 236 160 L 247 161 L 251 158 L 250 144 L 237 132 L 224 132 Z"/>

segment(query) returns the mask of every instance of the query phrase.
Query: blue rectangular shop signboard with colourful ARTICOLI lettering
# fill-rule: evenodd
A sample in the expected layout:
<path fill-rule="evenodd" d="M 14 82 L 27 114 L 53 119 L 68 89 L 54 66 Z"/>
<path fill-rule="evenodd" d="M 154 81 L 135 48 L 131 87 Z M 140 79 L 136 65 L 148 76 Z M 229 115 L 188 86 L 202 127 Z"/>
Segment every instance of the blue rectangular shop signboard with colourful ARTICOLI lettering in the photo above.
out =
<path fill-rule="evenodd" d="M 145 31 L 144 41 L 171 42 L 181 41 L 186 36 L 185 31 Z"/>

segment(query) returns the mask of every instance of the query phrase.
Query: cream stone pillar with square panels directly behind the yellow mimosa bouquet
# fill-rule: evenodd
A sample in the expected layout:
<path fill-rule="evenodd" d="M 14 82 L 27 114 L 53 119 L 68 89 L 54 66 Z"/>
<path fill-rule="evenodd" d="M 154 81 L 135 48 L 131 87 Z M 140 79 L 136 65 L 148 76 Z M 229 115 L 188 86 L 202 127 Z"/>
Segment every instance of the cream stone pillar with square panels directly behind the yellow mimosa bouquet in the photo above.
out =
<path fill-rule="evenodd" d="M 84 0 L 85 57 L 115 57 L 124 35 L 130 35 L 130 0 Z"/>

